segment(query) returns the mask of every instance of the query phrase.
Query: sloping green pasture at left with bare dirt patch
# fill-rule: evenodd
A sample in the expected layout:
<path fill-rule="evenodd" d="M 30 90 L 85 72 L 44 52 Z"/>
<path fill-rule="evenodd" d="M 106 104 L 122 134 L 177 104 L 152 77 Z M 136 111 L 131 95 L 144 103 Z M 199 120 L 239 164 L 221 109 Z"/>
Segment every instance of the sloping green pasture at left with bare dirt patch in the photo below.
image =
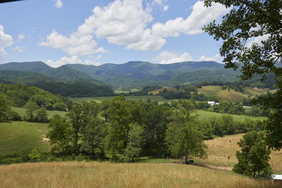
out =
<path fill-rule="evenodd" d="M 0 121 L 0 154 L 26 149 L 47 150 L 48 123 Z"/>

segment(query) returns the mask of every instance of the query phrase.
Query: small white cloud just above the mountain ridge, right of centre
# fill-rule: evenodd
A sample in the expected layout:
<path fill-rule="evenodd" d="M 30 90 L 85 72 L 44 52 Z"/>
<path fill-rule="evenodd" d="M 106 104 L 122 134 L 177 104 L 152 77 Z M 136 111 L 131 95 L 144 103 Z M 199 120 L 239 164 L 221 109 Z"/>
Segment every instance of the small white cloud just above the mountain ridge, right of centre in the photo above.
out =
<path fill-rule="evenodd" d="M 153 60 L 161 60 L 160 64 L 171 64 L 177 62 L 192 61 L 192 57 L 187 52 L 179 55 L 174 52 L 163 51 L 159 53 L 158 56 L 154 57 Z"/>

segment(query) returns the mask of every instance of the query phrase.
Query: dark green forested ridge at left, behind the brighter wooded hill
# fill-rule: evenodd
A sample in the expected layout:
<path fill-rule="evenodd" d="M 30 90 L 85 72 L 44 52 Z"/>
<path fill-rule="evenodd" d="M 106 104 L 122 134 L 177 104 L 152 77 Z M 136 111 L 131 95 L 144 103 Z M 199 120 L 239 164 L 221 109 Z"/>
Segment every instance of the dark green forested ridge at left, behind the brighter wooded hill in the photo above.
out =
<path fill-rule="evenodd" d="M 17 70 L 0 70 L 0 82 L 35 86 L 64 97 L 104 97 L 114 94 L 111 86 L 95 80 L 81 79 L 65 83 L 40 73 Z"/>

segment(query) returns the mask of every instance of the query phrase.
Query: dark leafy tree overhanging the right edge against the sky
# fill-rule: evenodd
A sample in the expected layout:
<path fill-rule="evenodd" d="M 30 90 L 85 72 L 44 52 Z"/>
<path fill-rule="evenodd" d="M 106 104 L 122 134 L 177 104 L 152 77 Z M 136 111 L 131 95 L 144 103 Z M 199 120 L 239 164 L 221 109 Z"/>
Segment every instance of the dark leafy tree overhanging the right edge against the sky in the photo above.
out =
<path fill-rule="evenodd" d="M 216 40 L 223 40 L 220 55 L 225 68 L 241 69 L 242 80 L 260 76 L 264 82 L 268 73 L 274 73 L 277 82 L 275 93 L 252 100 L 264 109 L 272 109 L 266 120 L 267 143 L 272 149 L 282 147 L 282 22 L 281 0 L 205 0 L 205 6 L 221 3 L 231 8 L 220 24 L 203 28 Z M 255 40 L 253 40 L 255 38 Z M 257 42 L 256 42 L 257 41 Z"/>

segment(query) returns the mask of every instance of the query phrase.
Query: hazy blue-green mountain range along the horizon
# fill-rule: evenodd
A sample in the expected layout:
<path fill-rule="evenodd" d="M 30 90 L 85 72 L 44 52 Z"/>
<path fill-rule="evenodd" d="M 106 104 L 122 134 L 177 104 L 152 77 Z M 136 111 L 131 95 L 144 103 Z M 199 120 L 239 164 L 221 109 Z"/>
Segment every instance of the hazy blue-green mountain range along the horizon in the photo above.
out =
<path fill-rule="evenodd" d="M 50 67 L 41 61 L 10 62 L 0 65 L 0 79 L 23 82 L 24 73 L 4 74 L 4 70 L 29 72 L 28 77 L 40 76 L 57 82 L 87 82 L 97 85 L 111 85 L 128 88 L 141 88 L 146 85 L 176 86 L 200 81 L 235 81 L 238 71 L 225 69 L 215 61 L 186 61 L 172 64 L 153 64 L 143 61 L 129 61 L 124 64 L 107 63 L 99 66 L 66 64 L 58 68 Z M 18 76 L 17 76 L 18 75 Z M 17 79 L 20 78 L 20 79 Z"/>

